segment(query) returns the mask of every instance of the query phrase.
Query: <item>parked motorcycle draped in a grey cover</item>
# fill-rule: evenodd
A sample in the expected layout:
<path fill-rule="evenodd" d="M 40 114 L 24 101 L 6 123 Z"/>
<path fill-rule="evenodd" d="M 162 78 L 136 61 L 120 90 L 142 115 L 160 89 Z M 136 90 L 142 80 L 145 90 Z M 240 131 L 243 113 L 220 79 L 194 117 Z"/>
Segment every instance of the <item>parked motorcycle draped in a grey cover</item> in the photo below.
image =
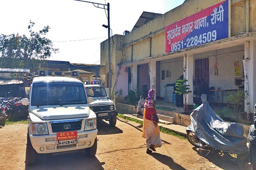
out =
<path fill-rule="evenodd" d="M 206 98 L 202 96 L 201 98 Z M 188 141 L 196 148 L 225 155 L 232 163 L 242 167 L 249 162 L 247 138 L 244 129 L 237 123 L 224 122 L 202 99 L 202 105 L 191 113 L 191 125 L 186 129 Z"/>

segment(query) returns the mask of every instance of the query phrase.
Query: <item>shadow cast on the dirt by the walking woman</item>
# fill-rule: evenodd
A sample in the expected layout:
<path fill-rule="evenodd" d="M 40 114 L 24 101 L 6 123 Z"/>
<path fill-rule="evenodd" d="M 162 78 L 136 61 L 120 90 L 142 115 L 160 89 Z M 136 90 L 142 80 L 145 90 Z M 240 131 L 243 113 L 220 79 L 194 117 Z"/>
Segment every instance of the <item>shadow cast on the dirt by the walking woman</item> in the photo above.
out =
<path fill-rule="evenodd" d="M 169 168 L 172 170 L 187 170 L 183 168 L 181 165 L 175 163 L 173 159 L 169 156 L 162 155 L 160 153 L 151 153 L 150 155 L 159 162 L 161 162 L 162 164 L 169 166 Z"/>

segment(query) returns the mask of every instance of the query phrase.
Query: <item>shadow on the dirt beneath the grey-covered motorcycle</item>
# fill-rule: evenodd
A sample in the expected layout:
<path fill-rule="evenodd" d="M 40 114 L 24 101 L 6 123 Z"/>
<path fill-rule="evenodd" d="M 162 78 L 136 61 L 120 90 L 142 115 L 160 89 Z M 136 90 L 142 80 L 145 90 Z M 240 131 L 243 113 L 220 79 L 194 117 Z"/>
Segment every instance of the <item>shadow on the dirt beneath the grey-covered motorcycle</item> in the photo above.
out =
<path fill-rule="evenodd" d="M 193 150 L 200 155 L 199 148 L 193 147 Z M 230 161 L 222 152 L 211 152 L 207 157 L 205 155 L 208 153 L 208 150 L 201 150 L 201 156 L 203 159 L 207 159 L 208 161 L 212 162 L 213 164 L 217 165 L 218 167 L 225 169 L 225 170 L 250 170 L 250 165 L 245 164 L 242 168 L 239 168 L 237 164 L 234 164 Z"/>

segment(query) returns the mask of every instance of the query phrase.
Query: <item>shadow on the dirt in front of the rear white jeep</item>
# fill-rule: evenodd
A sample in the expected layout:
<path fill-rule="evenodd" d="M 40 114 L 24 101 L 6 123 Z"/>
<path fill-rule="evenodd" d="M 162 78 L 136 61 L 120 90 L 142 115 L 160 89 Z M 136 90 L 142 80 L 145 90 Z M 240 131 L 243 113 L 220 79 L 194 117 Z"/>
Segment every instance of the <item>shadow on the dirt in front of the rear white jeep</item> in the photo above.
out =
<path fill-rule="evenodd" d="M 123 131 L 117 127 L 110 126 L 107 122 L 103 120 L 97 121 L 97 135 L 105 135 L 105 134 L 118 134 L 123 133 Z"/>

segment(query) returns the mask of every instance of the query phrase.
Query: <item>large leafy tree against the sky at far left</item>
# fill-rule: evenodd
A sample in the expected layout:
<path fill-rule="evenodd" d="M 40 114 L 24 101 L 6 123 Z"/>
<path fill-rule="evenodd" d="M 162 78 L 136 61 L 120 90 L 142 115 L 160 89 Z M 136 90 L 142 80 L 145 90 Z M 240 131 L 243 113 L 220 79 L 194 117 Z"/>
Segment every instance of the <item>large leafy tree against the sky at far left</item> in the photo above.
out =
<path fill-rule="evenodd" d="M 59 51 L 58 48 L 53 48 L 51 40 L 44 37 L 50 27 L 45 26 L 39 32 L 34 32 L 34 25 L 35 23 L 30 20 L 30 37 L 19 37 L 18 34 L 0 35 L 0 67 L 29 68 L 31 71 L 37 71 L 41 62 Z"/>

